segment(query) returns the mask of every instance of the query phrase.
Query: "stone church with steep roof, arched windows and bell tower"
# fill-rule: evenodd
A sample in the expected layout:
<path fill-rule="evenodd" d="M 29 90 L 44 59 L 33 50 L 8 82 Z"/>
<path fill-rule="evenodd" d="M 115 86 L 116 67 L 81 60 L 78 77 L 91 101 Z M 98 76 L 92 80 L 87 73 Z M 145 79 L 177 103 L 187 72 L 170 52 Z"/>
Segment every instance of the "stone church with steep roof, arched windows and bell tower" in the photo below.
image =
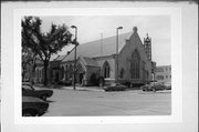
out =
<path fill-rule="evenodd" d="M 134 27 L 133 32 L 118 35 L 118 81 L 133 85 L 151 81 L 151 39 L 147 34 L 143 43 L 137 31 Z M 116 80 L 116 35 L 77 45 L 76 57 L 76 83 L 88 85 L 100 77 L 105 83 Z M 51 62 L 49 78 L 72 80 L 73 64 L 74 49 Z"/>

